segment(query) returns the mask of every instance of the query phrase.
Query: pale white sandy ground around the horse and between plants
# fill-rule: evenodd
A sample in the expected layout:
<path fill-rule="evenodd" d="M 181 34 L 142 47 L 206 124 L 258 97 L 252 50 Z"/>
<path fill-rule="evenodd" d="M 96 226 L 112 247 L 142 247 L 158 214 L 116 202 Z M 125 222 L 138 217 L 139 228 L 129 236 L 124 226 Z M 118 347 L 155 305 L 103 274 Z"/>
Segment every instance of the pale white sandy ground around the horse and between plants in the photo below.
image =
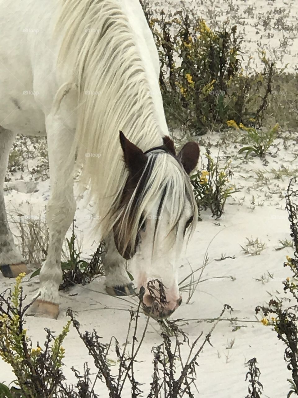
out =
<path fill-rule="evenodd" d="M 213 18 L 207 18 L 207 9 L 213 7 L 219 14 Z M 236 11 L 232 12 L 236 7 Z M 255 53 L 257 43 L 261 42 L 268 47 L 273 56 L 273 48 L 280 47 L 280 39 L 283 35 L 295 36 L 290 40 L 288 50 L 283 51 L 281 59 L 284 63 L 290 62 L 289 68 L 296 67 L 297 60 L 297 31 L 282 31 L 272 28 L 277 16 L 272 16 L 271 11 L 275 8 L 290 10 L 288 17 L 283 18 L 285 23 L 293 21 L 296 24 L 298 6 L 293 2 L 282 1 L 236 1 L 230 2 L 215 1 L 199 4 L 202 16 L 211 23 L 219 23 L 227 16 L 234 23 L 237 20 L 243 22 L 243 29 L 246 32 L 246 45 L 250 52 Z M 245 13 L 248 8 L 253 8 L 253 14 Z M 274 37 L 265 37 L 265 29 L 255 23 L 262 18 L 262 14 L 272 16 L 271 27 L 268 28 Z M 260 17 L 261 16 L 261 17 Z M 265 16 L 264 16 L 265 18 Z M 213 21 L 213 22 L 212 22 Z M 258 34 L 255 31 L 259 31 Z M 295 33 L 296 32 L 296 33 Z M 267 32 L 268 33 L 268 32 Z M 267 34 L 266 33 L 266 34 Z M 262 38 L 261 38 L 262 36 Z M 281 51 L 281 49 L 279 50 Z M 276 51 L 275 51 L 276 53 Z M 257 56 L 254 54 L 255 58 Z M 232 314 L 226 313 L 226 318 L 233 318 L 234 321 L 221 321 L 212 334 L 211 343 L 207 345 L 199 357 L 199 368 L 197 369 L 197 388 L 195 396 L 202 398 L 231 398 L 245 396 L 248 392 L 248 382 L 245 381 L 247 368 L 244 363 L 256 357 L 259 369 L 261 370 L 260 381 L 264 386 L 264 397 L 281 398 L 286 396 L 289 385 L 287 378 L 290 372 L 286 369 L 283 359 L 284 346 L 277 340 L 275 332 L 271 327 L 263 326 L 255 317 L 254 308 L 256 305 L 265 304 L 271 297 L 283 297 L 282 280 L 288 276 L 288 271 L 283 267 L 286 255 L 292 255 L 291 248 L 284 248 L 276 251 L 280 246 L 279 240 L 290 239 L 289 223 L 287 213 L 284 209 L 284 193 L 290 175 L 297 173 L 298 147 L 297 142 L 292 141 L 287 134 L 283 134 L 275 141 L 275 148 L 271 152 L 277 152 L 277 157 L 267 155 L 266 165 L 259 158 L 238 155 L 240 144 L 235 144 L 232 134 L 209 133 L 201 141 L 201 153 L 204 145 L 208 145 L 213 156 L 217 156 L 221 142 L 219 156 L 222 161 L 232 160 L 231 169 L 234 172 L 232 183 L 241 191 L 233 195 L 226 204 L 224 217 L 215 222 L 210 213 L 203 212 L 203 219 L 197 226 L 195 234 L 188 244 L 187 250 L 178 260 L 180 266 L 179 279 L 182 281 L 191 269 L 196 269 L 203 264 L 205 253 L 208 253 L 209 263 L 203 273 L 203 280 L 199 283 L 189 304 L 186 304 L 188 293 L 183 292 L 183 303 L 176 310 L 174 318 L 183 318 L 183 327 L 190 341 L 203 332 L 207 334 L 212 323 L 206 319 L 216 318 L 221 312 L 224 304 L 229 304 L 234 309 Z M 236 135 L 235 135 L 236 137 Z M 223 140 L 225 142 L 223 143 Z M 17 172 L 12 179 L 32 178 L 30 170 L 39 162 L 39 158 L 32 158 L 25 162 L 25 171 Z M 206 166 L 206 159 L 203 155 L 200 167 Z M 287 177 L 276 179 L 270 171 L 281 167 L 289 169 Z M 257 172 L 261 171 L 259 177 Z M 260 177 L 261 176 L 261 177 Z M 265 178 L 264 178 L 265 177 Z M 31 194 L 17 193 L 14 190 L 6 192 L 6 203 L 10 211 L 17 208 L 24 214 L 29 214 L 29 203 L 32 205 L 32 215 L 38 215 L 44 211 L 49 195 L 49 182 L 39 180 L 37 192 Z M 91 204 L 85 203 L 84 199 L 77 201 L 76 212 L 76 233 L 83 239 L 83 254 L 90 256 L 96 249 L 97 243 L 90 235 L 92 216 Z M 12 228 L 14 225 L 12 224 Z M 265 250 L 259 256 L 244 255 L 240 245 L 245 246 L 246 238 L 259 238 L 265 244 Z M 231 256 L 223 261 L 216 261 L 221 256 Z M 271 277 L 269 276 L 271 275 Z M 258 281 L 263 275 L 264 281 Z M 4 279 L 0 275 L 0 291 L 11 286 L 14 282 Z M 25 293 L 29 297 L 38 289 L 38 278 L 23 283 Z M 76 294 L 76 295 L 75 295 Z M 66 309 L 71 307 L 77 312 L 77 319 L 81 323 L 82 330 L 95 328 L 103 341 L 108 342 L 114 335 L 120 342 L 125 341 L 125 334 L 129 322 L 129 308 L 136 306 L 134 299 L 127 301 L 119 298 L 109 297 L 104 291 L 104 278 L 99 278 L 87 286 L 76 286 L 69 293 L 62 293 L 60 315 L 58 320 L 36 319 L 27 317 L 27 328 L 33 342 L 44 341 L 44 328 L 48 327 L 57 334 L 66 324 Z M 145 316 L 139 322 L 139 334 L 145 325 Z M 235 328 L 240 326 L 240 328 Z M 236 329 L 236 330 L 235 330 Z M 233 331 L 234 330 L 234 331 Z M 232 344 L 231 341 L 234 340 Z M 153 369 L 153 355 L 151 348 L 161 342 L 159 327 L 154 320 L 149 322 L 148 332 L 139 353 L 142 361 L 136 366 L 136 379 L 145 383 L 143 389 L 148 391 L 151 382 L 151 371 Z M 232 348 L 229 348 L 231 347 Z M 83 370 L 83 362 L 88 361 L 91 369 L 94 368 L 91 357 L 87 353 L 83 343 L 76 332 L 71 329 L 67 336 L 64 347 L 66 358 L 64 363 L 65 375 L 68 382 L 74 382 L 75 378 L 70 370 L 74 366 L 79 371 Z M 188 353 L 188 347 L 183 347 L 184 355 Z M 113 359 L 114 354 L 111 353 Z M 94 373 L 95 370 L 94 370 Z M 115 365 L 116 373 L 116 365 Z M 14 380 L 10 366 L 0 360 L 0 381 L 9 383 Z M 101 397 L 108 397 L 105 386 L 100 382 L 95 390 Z M 146 396 L 146 394 L 144 394 Z M 130 397 L 130 390 L 127 386 L 123 397 Z"/>

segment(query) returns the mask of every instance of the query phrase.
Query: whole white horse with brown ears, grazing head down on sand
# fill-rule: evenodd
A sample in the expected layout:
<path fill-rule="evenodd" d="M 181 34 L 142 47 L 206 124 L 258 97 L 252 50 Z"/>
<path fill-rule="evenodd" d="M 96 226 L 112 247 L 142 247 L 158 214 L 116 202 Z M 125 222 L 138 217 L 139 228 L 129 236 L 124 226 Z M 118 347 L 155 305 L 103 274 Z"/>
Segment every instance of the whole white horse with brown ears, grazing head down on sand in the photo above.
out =
<path fill-rule="evenodd" d="M 125 269 L 131 259 L 137 287 L 145 288 L 145 310 L 170 315 L 181 303 L 175 260 L 197 219 L 188 174 L 199 148 L 189 142 L 176 156 L 168 138 L 159 57 L 139 1 L 0 0 L 0 26 L 2 271 L 9 276 L 24 263 L 4 205 L 9 151 L 17 133 L 46 135 L 50 244 L 34 310 L 58 316 L 61 248 L 76 209 L 76 159 L 107 244 L 108 293 L 133 292 Z M 163 283 L 163 300 L 148 289 L 155 279 Z"/>

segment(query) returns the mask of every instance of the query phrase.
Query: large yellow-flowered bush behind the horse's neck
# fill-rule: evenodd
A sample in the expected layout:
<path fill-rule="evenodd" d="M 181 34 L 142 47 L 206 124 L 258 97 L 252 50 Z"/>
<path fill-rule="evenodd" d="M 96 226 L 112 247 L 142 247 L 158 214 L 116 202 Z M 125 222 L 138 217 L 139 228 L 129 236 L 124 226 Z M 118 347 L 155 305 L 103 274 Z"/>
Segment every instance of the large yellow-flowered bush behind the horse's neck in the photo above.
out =
<path fill-rule="evenodd" d="M 236 26 L 224 23 L 212 30 L 195 10 L 180 6 L 165 14 L 153 11 L 146 0 L 141 4 L 159 51 L 159 83 L 169 125 L 204 134 L 229 119 L 259 122 L 268 105 L 274 69 L 265 53 L 262 73 L 244 72 L 243 37 Z"/>

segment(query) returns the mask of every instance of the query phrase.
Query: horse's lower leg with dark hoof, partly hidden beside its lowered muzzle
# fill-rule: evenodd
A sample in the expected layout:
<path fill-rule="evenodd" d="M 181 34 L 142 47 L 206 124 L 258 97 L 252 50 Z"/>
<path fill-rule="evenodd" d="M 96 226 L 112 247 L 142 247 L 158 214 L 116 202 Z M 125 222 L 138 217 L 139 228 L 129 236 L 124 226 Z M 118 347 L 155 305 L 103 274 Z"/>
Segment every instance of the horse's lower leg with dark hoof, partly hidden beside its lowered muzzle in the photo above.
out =
<path fill-rule="evenodd" d="M 114 237 L 108 235 L 106 255 L 103 260 L 106 274 L 106 291 L 111 296 L 129 296 L 135 293 L 134 286 L 125 269 L 125 259 L 120 256 L 114 243 Z"/>

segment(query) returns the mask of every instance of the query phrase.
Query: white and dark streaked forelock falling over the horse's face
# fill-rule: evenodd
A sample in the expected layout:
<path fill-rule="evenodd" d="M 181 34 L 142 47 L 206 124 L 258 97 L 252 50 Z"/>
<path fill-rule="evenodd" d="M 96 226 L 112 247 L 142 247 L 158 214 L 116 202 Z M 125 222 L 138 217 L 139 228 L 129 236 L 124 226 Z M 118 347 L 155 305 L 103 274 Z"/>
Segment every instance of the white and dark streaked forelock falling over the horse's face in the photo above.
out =
<path fill-rule="evenodd" d="M 155 156 L 153 167 L 151 168 L 150 157 Z M 161 195 L 165 192 L 162 207 L 160 209 L 161 216 L 167 210 L 170 215 L 168 230 L 174 230 L 177 226 L 185 209 L 186 201 L 190 201 L 190 205 L 194 212 L 194 221 L 192 222 L 191 234 L 194 231 L 197 220 L 197 206 L 195 205 L 194 193 L 192 185 L 186 173 L 178 164 L 177 160 L 170 154 L 160 151 L 153 151 L 149 155 L 146 168 L 143 175 L 148 172 L 147 168 L 151 168 L 145 186 L 139 192 L 137 207 L 135 207 L 135 194 L 130 198 L 128 205 L 120 210 L 118 218 L 122 218 L 119 228 L 119 240 L 127 245 L 131 242 L 132 247 L 135 246 L 137 234 L 139 233 L 139 222 L 142 218 L 146 219 L 151 213 L 153 207 L 156 207 L 158 201 L 161 200 Z M 141 182 L 142 178 L 139 181 Z M 138 184 L 138 185 L 139 185 Z M 165 207 L 168 207 L 165 209 Z M 133 222 L 133 224 L 131 224 Z M 152 251 L 154 250 L 155 240 L 159 238 L 159 227 L 162 222 L 156 220 L 157 231 L 154 236 Z M 130 225 L 129 233 L 126 226 Z M 175 234 L 176 236 L 176 234 Z M 168 250 L 172 248 L 174 241 L 165 242 L 168 244 Z"/>

